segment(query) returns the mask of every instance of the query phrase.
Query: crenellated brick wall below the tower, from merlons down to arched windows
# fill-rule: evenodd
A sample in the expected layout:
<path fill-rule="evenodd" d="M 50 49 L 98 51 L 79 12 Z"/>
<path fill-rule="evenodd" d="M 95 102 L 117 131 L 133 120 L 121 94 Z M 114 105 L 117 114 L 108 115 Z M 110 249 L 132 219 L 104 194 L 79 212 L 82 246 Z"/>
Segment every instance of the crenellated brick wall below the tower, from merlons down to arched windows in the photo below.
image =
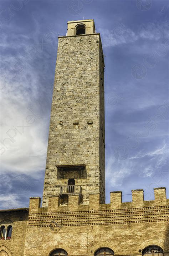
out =
<path fill-rule="evenodd" d="M 68 256 L 93 256 L 98 248 L 109 247 L 115 256 L 141 256 L 139 249 L 157 245 L 169 256 L 169 200 L 165 188 L 154 193 L 154 201 L 144 201 L 143 190 L 133 190 L 132 202 L 123 203 L 120 191 L 111 192 L 109 204 L 99 204 L 99 194 L 93 194 L 89 205 L 79 205 L 78 196 L 70 195 L 64 207 L 56 196 L 49 198 L 48 208 L 32 198 L 25 255 L 48 256 L 63 248 Z"/>

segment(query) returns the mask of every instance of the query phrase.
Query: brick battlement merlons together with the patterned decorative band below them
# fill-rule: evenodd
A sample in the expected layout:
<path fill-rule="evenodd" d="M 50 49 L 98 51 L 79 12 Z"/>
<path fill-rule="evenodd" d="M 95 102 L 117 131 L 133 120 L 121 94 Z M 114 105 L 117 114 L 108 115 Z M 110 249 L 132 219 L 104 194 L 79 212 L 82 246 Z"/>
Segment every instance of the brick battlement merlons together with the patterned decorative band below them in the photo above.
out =
<path fill-rule="evenodd" d="M 145 201 L 143 189 L 132 190 L 132 202 L 122 202 L 122 192 L 110 192 L 110 203 L 100 204 L 99 193 L 89 193 L 88 205 L 80 203 L 80 195 L 68 195 L 67 205 L 59 196 L 49 197 L 48 207 L 40 207 L 41 198 L 30 198 L 28 227 L 59 228 L 67 226 L 123 225 L 167 222 L 169 199 L 165 188 L 154 188 L 155 200 Z"/>

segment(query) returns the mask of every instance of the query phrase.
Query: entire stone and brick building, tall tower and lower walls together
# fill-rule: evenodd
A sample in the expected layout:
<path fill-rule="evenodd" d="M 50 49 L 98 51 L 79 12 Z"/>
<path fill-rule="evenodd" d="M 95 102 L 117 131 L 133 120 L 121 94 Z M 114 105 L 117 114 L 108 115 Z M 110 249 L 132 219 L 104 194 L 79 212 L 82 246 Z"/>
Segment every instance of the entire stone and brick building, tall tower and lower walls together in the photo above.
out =
<path fill-rule="evenodd" d="M 110 192 L 105 204 L 104 57 L 94 20 L 68 22 L 58 38 L 41 198 L 0 210 L 2 256 L 169 256 L 169 200 L 154 188 Z M 144 249 L 142 251 L 142 249 Z"/>

